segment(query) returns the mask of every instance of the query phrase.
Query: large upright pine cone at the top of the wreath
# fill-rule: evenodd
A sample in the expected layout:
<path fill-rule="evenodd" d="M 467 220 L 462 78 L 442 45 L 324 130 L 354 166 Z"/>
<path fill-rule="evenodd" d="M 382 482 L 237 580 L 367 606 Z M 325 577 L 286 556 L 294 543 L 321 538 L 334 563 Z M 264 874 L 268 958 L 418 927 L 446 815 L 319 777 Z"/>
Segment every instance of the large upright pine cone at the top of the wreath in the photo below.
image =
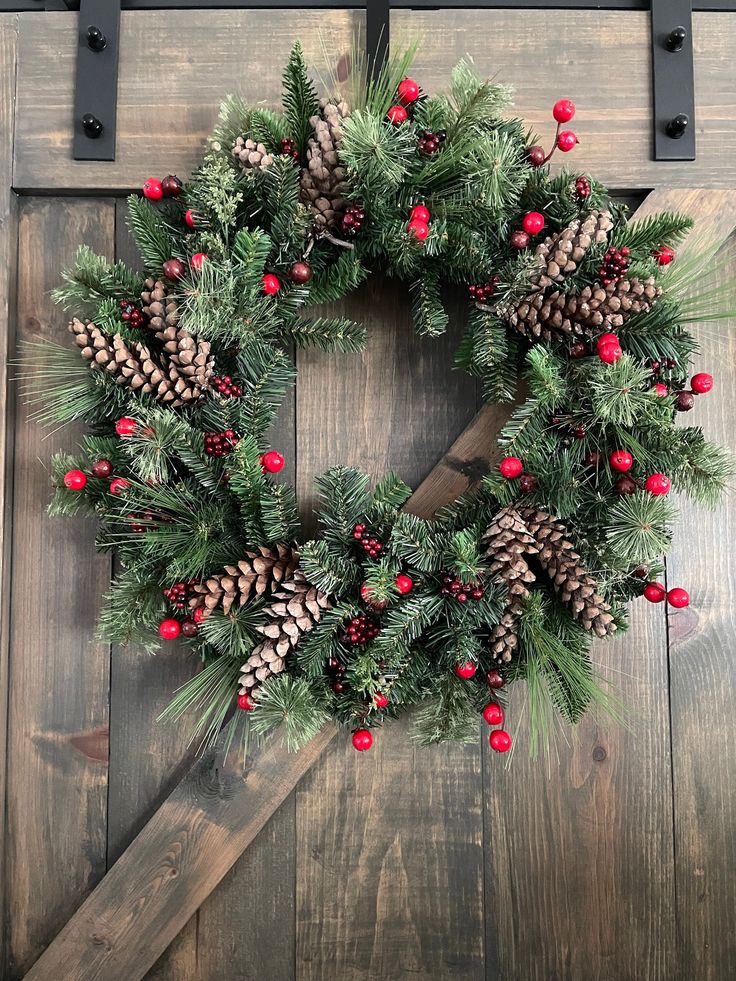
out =
<path fill-rule="evenodd" d="M 314 215 L 320 228 L 335 224 L 345 207 L 346 169 L 340 163 L 338 150 L 342 139 L 342 121 L 350 113 L 346 102 L 322 99 L 321 115 L 310 117 L 314 136 L 307 148 L 307 167 L 300 177 L 300 196 Z"/>

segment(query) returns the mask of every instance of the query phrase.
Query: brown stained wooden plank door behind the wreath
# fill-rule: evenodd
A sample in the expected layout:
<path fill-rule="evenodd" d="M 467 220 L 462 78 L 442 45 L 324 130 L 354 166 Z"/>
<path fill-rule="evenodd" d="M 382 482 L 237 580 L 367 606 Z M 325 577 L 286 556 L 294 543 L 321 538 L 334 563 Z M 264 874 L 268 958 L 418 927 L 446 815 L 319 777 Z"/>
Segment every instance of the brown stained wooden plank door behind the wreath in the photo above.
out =
<path fill-rule="evenodd" d="M 574 96 L 581 170 L 637 200 L 666 186 L 644 207 L 690 209 L 725 238 L 736 214 L 736 13 L 694 18 L 692 164 L 650 160 L 647 16 L 406 10 L 393 14 L 392 33 L 422 39 L 415 73 L 430 90 L 469 51 L 481 71 L 517 85 L 517 110 L 539 132 L 554 99 Z M 347 49 L 362 19 L 339 9 L 298 18 L 124 12 L 117 157 L 75 163 L 77 15 L 0 15 L 6 375 L 20 340 L 63 337 L 48 291 L 80 242 L 132 258 L 125 194 L 149 175 L 189 172 L 221 97 L 239 91 L 275 101 L 297 37 L 323 67 Z M 691 186 L 711 190 L 677 190 Z M 299 353 L 299 384 L 278 429 L 307 521 L 315 473 L 345 462 L 371 473 L 392 468 L 417 485 L 480 404 L 476 388 L 449 368 L 460 302 L 448 335 L 436 340 L 413 336 L 406 297 L 394 285 L 372 282 L 349 306 L 368 323 L 367 351 Z M 698 402 L 696 422 L 733 444 L 736 342 L 727 331 L 704 330 L 701 344 L 721 396 Z M 257 760 L 255 785 L 243 791 L 234 770 L 211 760 L 190 771 L 186 726 L 156 722 L 194 670 L 191 661 L 182 652 L 151 658 L 95 641 L 111 561 L 94 552 L 91 523 L 44 511 L 44 465 L 77 433 L 49 435 L 14 386 L 3 391 L 4 977 L 23 977 L 90 894 L 91 905 L 34 977 L 142 977 L 165 946 L 159 938 L 173 937 L 171 924 L 180 921 L 148 977 L 736 975 L 732 502 L 714 515 L 684 509 L 669 569 L 691 589 L 687 614 L 668 626 L 664 614 L 639 606 L 629 633 L 600 648 L 636 707 L 632 730 L 588 721 L 549 764 L 519 752 L 510 769 L 490 758 L 480 734 L 470 746 L 417 749 L 399 723 L 365 758 L 326 732 L 301 762 Z M 462 484 L 464 458 L 487 458 L 494 418 L 484 414 L 439 478 L 435 471 L 424 506 L 439 493 L 438 480 L 450 490 Z M 512 718 L 520 712 L 519 704 Z M 6 727 L 0 732 L 4 738 Z M 232 800 L 242 793 L 250 796 L 238 823 Z M 141 829 L 144 845 L 116 865 Z M 113 866 L 117 878 L 106 878 Z M 100 882 L 114 886 L 94 892 Z M 191 896 L 199 908 L 184 924 Z"/>

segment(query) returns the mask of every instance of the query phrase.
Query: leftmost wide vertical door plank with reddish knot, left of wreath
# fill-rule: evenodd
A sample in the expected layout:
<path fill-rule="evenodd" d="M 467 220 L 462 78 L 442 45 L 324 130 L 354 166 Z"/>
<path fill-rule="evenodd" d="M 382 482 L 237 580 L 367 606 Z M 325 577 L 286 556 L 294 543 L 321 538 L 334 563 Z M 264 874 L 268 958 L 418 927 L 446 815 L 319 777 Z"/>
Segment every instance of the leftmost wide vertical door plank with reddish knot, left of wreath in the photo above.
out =
<path fill-rule="evenodd" d="M 26 199 L 17 336 L 61 339 L 49 290 L 80 242 L 111 254 L 109 201 Z M 17 389 L 15 396 L 18 398 Z M 94 522 L 45 516 L 44 469 L 81 432 L 51 436 L 15 408 L 6 837 L 9 976 L 21 976 L 105 872 L 109 658 L 93 624 L 110 581 Z"/>

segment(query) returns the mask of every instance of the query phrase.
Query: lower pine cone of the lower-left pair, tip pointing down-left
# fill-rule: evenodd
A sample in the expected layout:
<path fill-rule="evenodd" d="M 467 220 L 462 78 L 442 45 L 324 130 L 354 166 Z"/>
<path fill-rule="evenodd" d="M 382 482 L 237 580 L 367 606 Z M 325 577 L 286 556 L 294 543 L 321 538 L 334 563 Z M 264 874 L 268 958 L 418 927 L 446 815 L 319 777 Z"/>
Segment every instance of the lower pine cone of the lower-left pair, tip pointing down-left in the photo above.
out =
<path fill-rule="evenodd" d="M 265 639 L 254 648 L 241 668 L 241 695 L 253 692 L 271 675 L 280 674 L 286 667 L 287 656 L 301 637 L 319 623 L 322 611 L 331 605 L 327 594 L 308 582 L 300 569 L 284 580 L 271 599 L 265 610 L 268 622 L 258 628 Z"/>

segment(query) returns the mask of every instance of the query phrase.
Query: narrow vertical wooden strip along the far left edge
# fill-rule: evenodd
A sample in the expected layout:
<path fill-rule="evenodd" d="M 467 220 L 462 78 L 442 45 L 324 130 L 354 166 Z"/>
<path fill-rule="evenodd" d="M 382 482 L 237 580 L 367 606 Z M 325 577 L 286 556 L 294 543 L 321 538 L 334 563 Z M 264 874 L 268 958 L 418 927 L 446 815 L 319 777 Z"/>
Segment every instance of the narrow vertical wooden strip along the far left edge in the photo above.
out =
<path fill-rule="evenodd" d="M 13 108 L 15 67 L 18 45 L 18 18 L 0 15 L 0 842 L 5 838 L 5 784 L 8 734 L 8 612 L 10 606 L 10 547 L 12 542 L 13 500 L 13 403 L 8 399 L 8 360 L 14 349 L 11 317 L 15 306 L 16 244 L 18 236 L 17 199 L 11 188 L 13 167 Z M 5 936 L 5 856 L 0 848 L 0 935 Z M 0 972 L 4 957 L 0 956 Z"/>

